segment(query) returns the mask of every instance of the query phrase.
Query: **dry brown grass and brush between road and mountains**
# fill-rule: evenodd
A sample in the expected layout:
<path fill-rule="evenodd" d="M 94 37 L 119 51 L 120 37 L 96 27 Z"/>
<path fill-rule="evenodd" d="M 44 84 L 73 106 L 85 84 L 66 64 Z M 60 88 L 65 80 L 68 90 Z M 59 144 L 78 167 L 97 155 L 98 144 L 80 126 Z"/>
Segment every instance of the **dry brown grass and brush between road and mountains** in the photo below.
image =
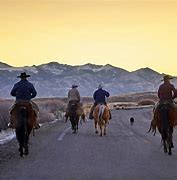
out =
<path fill-rule="evenodd" d="M 134 93 L 122 96 L 112 96 L 107 99 L 110 108 L 127 107 L 138 105 L 151 105 L 157 102 L 157 94 L 153 92 Z M 8 109 L 14 100 L 0 100 L 0 130 L 7 128 L 9 122 Z M 67 98 L 36 98 L 34 102 L 39 106 L 39 123 L 49 122 L 63 116 L 67 105 Z M 93 105 L 92 97 L 82 97 L 84 112 L 88 116 L 91 106 Z"/>

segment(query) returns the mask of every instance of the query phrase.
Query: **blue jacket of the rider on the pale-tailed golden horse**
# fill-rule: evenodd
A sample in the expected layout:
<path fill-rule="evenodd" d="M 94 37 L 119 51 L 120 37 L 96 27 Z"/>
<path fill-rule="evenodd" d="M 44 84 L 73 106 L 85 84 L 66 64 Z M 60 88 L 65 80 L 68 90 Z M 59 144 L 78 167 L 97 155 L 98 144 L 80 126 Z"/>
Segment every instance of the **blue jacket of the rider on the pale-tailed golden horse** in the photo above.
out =
<path fill-rule="evenodd" d="M 98 89 L 93 94 L 95 103 L 105 103 L 106 102 L 105 97 L 109 97 L 109 92 L 103 89 Z"/>

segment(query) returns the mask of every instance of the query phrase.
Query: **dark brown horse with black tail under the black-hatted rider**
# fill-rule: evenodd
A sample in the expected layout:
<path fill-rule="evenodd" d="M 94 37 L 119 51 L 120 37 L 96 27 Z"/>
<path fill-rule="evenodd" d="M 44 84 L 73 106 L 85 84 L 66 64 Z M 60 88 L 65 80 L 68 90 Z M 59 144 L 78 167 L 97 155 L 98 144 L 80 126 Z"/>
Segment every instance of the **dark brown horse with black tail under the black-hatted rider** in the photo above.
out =
<path fill-rule="evenodd" d="M 29 101 L 16 102 L 11 111 L 11 118 L 15 122 L 15 133 L 19 143 L 20 156 L 29 154 L 29 135 L 34 127 L 36 114 Z"/>

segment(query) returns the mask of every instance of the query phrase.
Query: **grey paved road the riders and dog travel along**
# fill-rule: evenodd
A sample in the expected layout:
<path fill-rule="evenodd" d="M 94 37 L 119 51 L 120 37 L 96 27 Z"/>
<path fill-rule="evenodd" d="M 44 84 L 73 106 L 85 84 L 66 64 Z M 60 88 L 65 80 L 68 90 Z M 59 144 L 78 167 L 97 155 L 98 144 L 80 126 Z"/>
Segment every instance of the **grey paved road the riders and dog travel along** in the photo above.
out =
<path fill-rule="evenodd" d="M 68 123 L 41 128 L 30 140 L 30 154 L 14 153 L 0 163 L 1 180 L 176 180 L 177 130 L 173 155 L 164 154 L 159 133 L 147 134 L 151 109 L 115 110 L 108 134 L 94 134 L 93 121 L 72 134 Z M 129 124 L 133 116 L 135 123 Z M 14 141 L 17 148 L 17 142 Z M 11 144 L 10 144 L 11 145 Z M 10 146 L 9 145 L 9 146 Z"/>

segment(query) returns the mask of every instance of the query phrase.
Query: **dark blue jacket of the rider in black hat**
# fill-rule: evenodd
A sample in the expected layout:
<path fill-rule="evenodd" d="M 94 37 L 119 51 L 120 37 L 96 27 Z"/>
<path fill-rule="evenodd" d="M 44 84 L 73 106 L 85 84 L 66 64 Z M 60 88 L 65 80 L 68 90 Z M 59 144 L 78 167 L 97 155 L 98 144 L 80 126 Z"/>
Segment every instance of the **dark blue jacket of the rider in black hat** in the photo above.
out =
<path fill-rule="evenodd" d="M 11 90 L 12 96 L 16 97 L 16 100 L 31 100 L 37 95 L 37 92 L 32 83 L 28 80 L 21 80 L 17 82 Z"/>

